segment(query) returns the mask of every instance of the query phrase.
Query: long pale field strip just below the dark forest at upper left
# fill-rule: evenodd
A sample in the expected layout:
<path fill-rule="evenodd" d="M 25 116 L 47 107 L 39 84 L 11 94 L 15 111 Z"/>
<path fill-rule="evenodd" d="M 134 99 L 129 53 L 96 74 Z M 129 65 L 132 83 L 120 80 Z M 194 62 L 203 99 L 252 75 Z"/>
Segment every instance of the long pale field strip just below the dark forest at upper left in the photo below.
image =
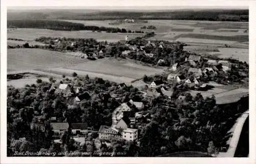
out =
<path fill-rule="evenodd" d="M 54 31 L 46 29 L 16 29 L 7 33 L 8 38 L 17 38 L 23 40 L 34 40 L 39 37 L 66 37 L 66 38 L 94 38 L 98 41 L 117 42 L 124 40 L 125 36 L 130 39 L 142 36 L 143 34 L 126 34 L 126 33 L 97 33 L 91 31 Z"/>

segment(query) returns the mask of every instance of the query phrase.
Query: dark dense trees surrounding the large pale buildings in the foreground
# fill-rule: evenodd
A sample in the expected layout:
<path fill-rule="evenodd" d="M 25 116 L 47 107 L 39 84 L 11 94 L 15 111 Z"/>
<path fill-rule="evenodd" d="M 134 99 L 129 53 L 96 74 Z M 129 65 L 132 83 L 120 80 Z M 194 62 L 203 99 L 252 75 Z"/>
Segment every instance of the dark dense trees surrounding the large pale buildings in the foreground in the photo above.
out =
<path fill-rule="evenodd" d="M 74 75 L 75 76 L 75 75 Z M 90 98 L 74 103 L 73 98 L 63 98 L 54 92 L 49 92 L 56 80 L 49 82 L 37 80 L 37 84 L 27 85 L 16 89 L 11 86 L 7 90 L 7 119 L 8 119 L 8 156 L 15 151 L 95 151 L 92 138 L 83 149 L 74 146 L 69 131 L 63 134 L 60 147 L 53 144 L 54 136 L 50 126 L 50 118 L 56 117 L 57 122 L 86 122 L 89 127 L 98 129 L 100 125 L 112 124 L 112 112 L 120 103 L 130 99 L 145 104 L 144 112 L 150 113 L 150 121 L 138 120 L 135 128 L 140 127 L 140 144 L 124 141 L 107 141 L 112 146 L 102 144 L 98 151 L 126 152 L 121 156 L 157 156 L 177 151 L 201 151 L 209 154 L 217 153 L 221 147 L 226 147 L 227 131 L 241 113 L 248 109 L 248 98 L 237 103 L 219 106 L 214 97 L 203 98 L 201 94 L 192 97 L 178 90 L 169 99 L 160 96 L 153 99 L 143 99 L 137 88 L 129 86 L 119 89 L 118 84 L 102 78 L 76 76 L 68 79 L 63 76 L 61 83 L 82 87 L 90 94 Z M 101 92 L 118 95 L 119 98 L 102 100 Z M 184 95 L 184 100 L 177 100 Z M 243 105 L 242 105 L 243 104 Z M 174 108 L 175 107 L 175 108 Z M 133 108 L 136 112 L 136 108 Z M 43 122 L 46 130 L 43 132 L 36 126 L 30 127 L 31 122 Z M 26 140 L 19 140 L 26 138 Z M 42 142 L 43 141 L 43 142 Z M 116 155 L 118 156 L 118 155 Z"/>

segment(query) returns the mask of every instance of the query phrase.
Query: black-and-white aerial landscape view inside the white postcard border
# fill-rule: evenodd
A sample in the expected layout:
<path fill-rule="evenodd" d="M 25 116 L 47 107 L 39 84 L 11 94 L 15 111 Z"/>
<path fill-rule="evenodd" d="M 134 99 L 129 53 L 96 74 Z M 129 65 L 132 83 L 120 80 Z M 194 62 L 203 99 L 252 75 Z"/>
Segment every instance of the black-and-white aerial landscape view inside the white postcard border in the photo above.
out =
<path fill-rule="evenodd" d="M 8 8 L 8 157 L 249 157 L 249 8 Z"/>

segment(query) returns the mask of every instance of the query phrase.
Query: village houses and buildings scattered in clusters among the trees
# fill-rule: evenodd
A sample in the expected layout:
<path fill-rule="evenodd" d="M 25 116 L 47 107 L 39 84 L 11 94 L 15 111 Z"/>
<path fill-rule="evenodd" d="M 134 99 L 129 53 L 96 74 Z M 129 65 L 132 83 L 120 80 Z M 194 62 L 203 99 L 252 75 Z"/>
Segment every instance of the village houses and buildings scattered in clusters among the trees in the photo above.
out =
<path fill-rule="evenodd" d="M 55 40 L 57 44 L 60 44 L 59 40 Z M 130 45 L 128 44 L 128 38 L 125 38 L 124 48 L 121 52 L 121 57 L 128 57 L 130 53 L 136 53 L 137 55 L 144 55 L 147 58 L 153 58 L 155 56 L 154 53 L 146 53 L 145 49 L 147 47 L 156 48 L 156 44 L 148 41 L 145 45 Z M 75 46 L 76 43 L 72 42 L 71 47 Z M 160 42 L 158 48 L 164 48 L 165 44 Z M 101 47 L 101 49 L 99 48 Z M 107 47 L 110 47 L 109 45 Z M 69 54 L 77 56 L 79 58 L 103 58 L 106 57 L 105 53 L 107 50 L 106 45 L 96 46 L 96 50 L 90 53 L 82 53 L 82 52 L 69 52 Z M 110 47 L 111 48 L 111 47 Z M 110 49 L 109 48 L 109 49 Z M 204 61 L 207 67 L 200 68 L 200 62 Z M 164 63 L 163 59 L 159 59 L 157 61 L 158 65 Z M 189 54 L 188 57 L 185 58 L 184 61 L 180 63 L 173 63 L 172 66 L 168 67 L 165 74 L 166 79 L 163 80 L 155 80 L 154 77 L 152 81 L 146 81 L 146 85 L 144 87 L 139 88 L 139 94 L 143 97 L 143 102 L 151 102 L 153 99 L 158 98 L 159 96 L 166 96 L 169 99 L 172 99 L 174 89 L 182 90 L 182 92 L 186 93 L 189 90 L 198 91 L 200 93 L 203 91 L 207 91 L 209 89 L 214 88 L 214 86 L 210 86 L 206 79 L 214 79 L 218 76 L 218 72 L 227 73 L 230 71 L 232 65 L 238 65 L 231 63 L 228 60 L 213 60 L 203 58 L 201 56 L 197 56 L 195 54 Z M 217 68 L 218 67 L 218 68 Z M 188 68 L 187 72 L 181 73 L 181 70 L 184 68 Z M 162 75 L 163 76 L 163 75 Z M 120 90 L 127 88 L 125 83 L 119 84 L 118 88 Z M 185 88 L 185 89 L 184 89 Z M 237 89 L 240 92 L 240 95 L 236 95 L 228 103 L 233 103 L 239 101 L 240 98 L 248 96 L 248 90 Z M 109 90 L 110 91 L 110 90 Z M 73 104 L 79 104 L 83 102 L 83 100 L 90 100 L 93 95 L 90 95 L 89 92 L 84 90 L 81 86 L 76 86 L 71 81 L 66 81 L 63 83 L 53 83 L 50 90 L 47 92 L 54 92 L 58 95 L 62 95 L 66 99 L 69 99 Z M 244 94 L 241 94 L 243 92 Z M 214 95 L 214 94 L 212 94 Z M 111 94 L 110 92 L 100 92 L 99 97 L 102 100 L 109 101 L 111 98 L 115 99 L 123 99 L 123 97 L 118 97 L 118 94 Z M 194 95 L 196 96 L 196 95 Z M 205 96 L 210 97 L 211 95 Z M 219 96 L 218 93 L 215 95 L 217 98 L 217 104 L 223 104 L 221 102 L 224 96 Z M 230 95 L 228 95 L 230 96 Z M 240 97 L 239 97 L 240 96 Z M 185 95 L 182 94 L 178 96 L 177 100 L 185 100 Z M 51 126 L 54 131 L 54 142 L 61 144 L 61 136 L 67 131 L 71 129 L 72 138 L 75 141 L 75 144 L 78 147 L 82 147 L 86 144 L 86 138 L 88 136 L 93 136 L 95 145 L 99 145 L 106 141 L 111 141 L 113 139 L 116 140 L 125 140 L 127 142 L 135 142 L 137 144 L 140 143 L 140 131 L 141 126 L 138 125 L 138 122 L 144 120 L 145 122 L 150 122 L 154 117 L 147 111 L 144 111 L 145 104 L 142 101 L 136 102 L 133 99 L 122 101 L 122 103 L 115 108 L 112 115 L 112 125 L 101 125 L 99 129 L 93 129 L 89 127 L 87 123 L 68 123 L 68 122 L 57 122 L 58 118 L 51 117 Z M 176 105 L 169 106 L 167 108 L 176 108 Z M 148 110 L 148 109 L 147 109 Z M 35 116 L 36 118 L 36 116 Z M 31 126 L 38 125 L 41 130 L 44 130 L 44 124 L 42 123 L 32 123 Z"/>

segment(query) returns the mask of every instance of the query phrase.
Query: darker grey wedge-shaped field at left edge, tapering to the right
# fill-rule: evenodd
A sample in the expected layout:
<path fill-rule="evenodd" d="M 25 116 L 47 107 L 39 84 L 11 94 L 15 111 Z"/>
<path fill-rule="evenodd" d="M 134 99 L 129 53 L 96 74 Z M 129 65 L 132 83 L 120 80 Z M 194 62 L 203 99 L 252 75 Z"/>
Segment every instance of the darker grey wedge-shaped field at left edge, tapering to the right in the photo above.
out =
<path fill-rule="evenodd" d="M 71 66 L 86 59 L 67 56 L 63 52 L 45 49 L 18 48 L 7 50 L 7 70 L 43 69 Z"/>

